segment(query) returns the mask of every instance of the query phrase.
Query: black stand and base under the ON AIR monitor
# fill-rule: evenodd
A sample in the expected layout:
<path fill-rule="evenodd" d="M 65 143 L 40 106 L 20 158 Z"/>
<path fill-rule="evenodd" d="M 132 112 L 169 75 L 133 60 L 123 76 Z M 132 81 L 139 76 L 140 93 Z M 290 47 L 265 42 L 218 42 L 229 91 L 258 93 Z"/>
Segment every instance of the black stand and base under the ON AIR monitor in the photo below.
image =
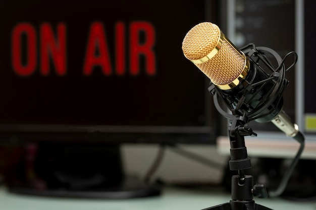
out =
<path fill-rule="evenodd" d="M 10 192 L 111 199 L 161 193 L 124 175 L 119 144 L 40 143 L 29 145 L 24 156 L 20 173 L 10 179 Z"/>

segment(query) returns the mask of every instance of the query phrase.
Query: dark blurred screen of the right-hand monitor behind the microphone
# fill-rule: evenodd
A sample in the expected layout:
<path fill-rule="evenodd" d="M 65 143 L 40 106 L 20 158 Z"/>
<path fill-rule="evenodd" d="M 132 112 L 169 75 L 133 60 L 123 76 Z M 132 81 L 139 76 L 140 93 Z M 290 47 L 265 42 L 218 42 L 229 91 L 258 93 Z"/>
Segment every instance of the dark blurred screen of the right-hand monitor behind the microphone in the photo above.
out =
<path fill-rule="evenodd" d="M 235 1 L 234 44 L 242 47 L 248 43 L 255 46 L 269 47 L 275 50 L 282 58 L 290 51 L 295 51 L 295 1 Z M 268 55 L 269 56 L 269 55 Z M 275 64 L 271 56 L 270 61 Z M 299 59 L 302 59 L 299 56 Z M 286 66 L 290 66 L 294 56 L 287 59 Z M 295 122 L 295 71 L 293 67 L 286 73 L 290 81 L 286 88 L 284 110 Z M 272 123 L 251 122 L 255 130 L 278 131 Z"/>

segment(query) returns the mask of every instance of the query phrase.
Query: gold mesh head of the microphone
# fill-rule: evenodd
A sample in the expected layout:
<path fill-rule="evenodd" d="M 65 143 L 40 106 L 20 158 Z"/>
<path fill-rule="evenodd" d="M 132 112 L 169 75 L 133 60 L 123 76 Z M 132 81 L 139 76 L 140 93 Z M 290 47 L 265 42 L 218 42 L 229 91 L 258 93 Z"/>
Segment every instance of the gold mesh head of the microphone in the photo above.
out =
<path fill-rule="evenodd" d="M 228 90 L 245 78 L 249 61 L 212 23 L 200 23 L 185 36 L 182 50 L 218 88 Z"/>

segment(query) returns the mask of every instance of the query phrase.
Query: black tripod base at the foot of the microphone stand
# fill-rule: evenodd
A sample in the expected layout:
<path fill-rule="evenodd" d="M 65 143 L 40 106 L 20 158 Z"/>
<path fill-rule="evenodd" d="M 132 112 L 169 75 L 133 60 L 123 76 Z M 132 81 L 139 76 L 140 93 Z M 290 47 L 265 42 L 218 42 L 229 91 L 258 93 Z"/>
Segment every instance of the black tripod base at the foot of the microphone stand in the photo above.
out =
<path fill-rule="evenodd" d="M 236 201 L 231 200 L 230 202 L 215 205 L 212 207 L 204 208 L 202 210 L 272 210 L 266 206 L 251 201 Z"/>

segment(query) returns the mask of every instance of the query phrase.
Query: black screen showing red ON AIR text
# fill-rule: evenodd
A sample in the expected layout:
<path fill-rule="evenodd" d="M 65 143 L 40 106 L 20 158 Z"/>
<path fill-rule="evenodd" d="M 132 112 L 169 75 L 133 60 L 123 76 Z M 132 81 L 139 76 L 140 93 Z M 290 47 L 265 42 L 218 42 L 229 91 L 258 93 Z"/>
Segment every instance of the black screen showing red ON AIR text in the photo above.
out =
<path fill-rule="evenodd" d="M 2 3 L 0 130 L 213 133 L 205 78 L 181 50 L 205 20 L 194 5 Z"/>

